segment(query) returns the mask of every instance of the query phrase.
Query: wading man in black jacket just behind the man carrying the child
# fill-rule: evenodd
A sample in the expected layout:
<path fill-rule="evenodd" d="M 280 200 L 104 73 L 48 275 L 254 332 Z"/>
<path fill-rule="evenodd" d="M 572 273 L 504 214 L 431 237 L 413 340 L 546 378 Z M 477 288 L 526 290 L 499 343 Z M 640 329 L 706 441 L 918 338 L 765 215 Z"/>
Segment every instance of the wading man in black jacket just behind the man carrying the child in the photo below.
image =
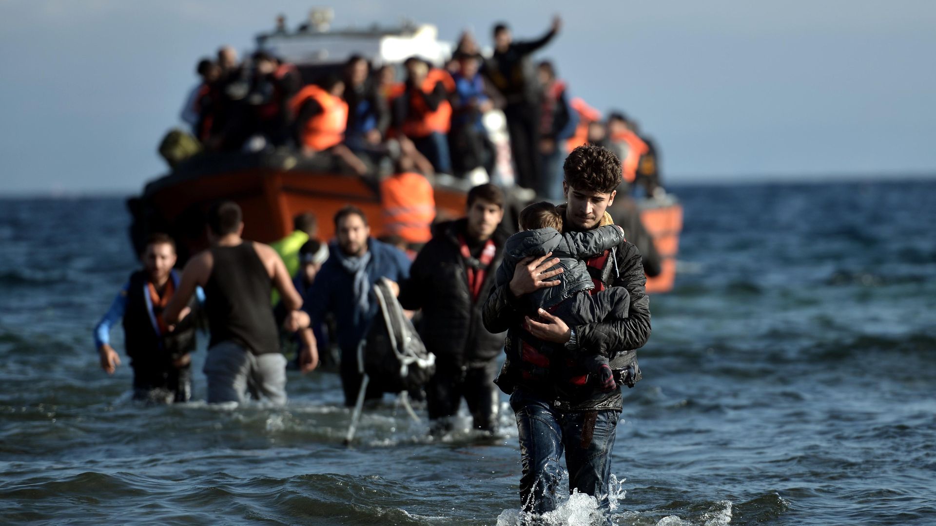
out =
<path fill-rule="evenodd" d="M 504 192 L 481 184 L 468 192 L 465 217 L 436 226 L 400 286 L 404 309 L 422 309 L 419 335 L 435 355 L 435 373 L 426 387 L 431 431 L 450 431 L 461 399 L 475 429 L 497 431 L 498 393 L 494 386 L 504 334 L 491 334 L 481 308 L 504 254 Z"/>

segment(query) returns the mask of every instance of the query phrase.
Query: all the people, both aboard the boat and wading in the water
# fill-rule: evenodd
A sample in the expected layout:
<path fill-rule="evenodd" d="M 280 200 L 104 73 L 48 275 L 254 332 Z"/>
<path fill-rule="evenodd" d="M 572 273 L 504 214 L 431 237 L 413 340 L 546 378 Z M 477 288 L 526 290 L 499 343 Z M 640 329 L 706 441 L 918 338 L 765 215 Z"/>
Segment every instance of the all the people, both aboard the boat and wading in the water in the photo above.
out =
<path fill-rule="evenodd" d="M 110 329 L 123 323 L 134 398 L 187 402 L 197 329 L 207 325 L 210 403 L 285 403 L 285 348 L 298 349 L 292 363 L 303 373 L 320 364 L 340 373 L 346 405 L 361 391 L 377 399 L 379 388 L 361 388 L 358 354 L 379 312 L 374 285 L 388 280 L 435 357 L 422 393 L 431 433 L 451 430 L 462 400 L 474 428 L 495 433 L 499 388 L 517 417 L 523 509 L 556 507 L 564 452 L 570 490 L 593 495 L 609 517 L 621 386 L 641 377 L 636 349 L 651 331 L 645 276 L 659 269 L 624 239 L 639 230 L 636 207 L 617 218 L 623 229 L 607 209 L 628 198 L 618 195 L 627 182 L 648 194 L 659 183 L 652 143 L 633 122 L 620 113 L 603 121 L 567 98 L 551 64 L 531 63 L 560 27 L 557 18 L 544 37 L 518 42 L 498 24 L 487 58 L 465 35 L 445 68 L 405 61 L 400 83 L 393 67 L 373 71 L 360 56 L 341 76 L 305 86 L 295 66 L 264 51 L 250 67 L 230 48 L 202 61 L 183 118 L 204 148 L 241 150 L 262 138 L 256 144 L 299 147 L 361 175 L 393 153 L 380 183 L 392 236 L 376 239 L 365 212 L 347 205 L 330 218 L 334 240 L 317 238 L 308 211 L 266 245 L 241 238 L 235 202 L 215 203 L 205 226 L 211 246 L 181 272 L 171 237 L 146 242 L 143 268 L 95 328 L 102 368 L 120 365 Z M 481 118 L 495 108 L 506 116 L 517 183 L 549 200 L 505 220 L 510 197 L 483 183 L 467 192 L 463 217 L 433 221 L 426 176 L 490 173 Z"/>

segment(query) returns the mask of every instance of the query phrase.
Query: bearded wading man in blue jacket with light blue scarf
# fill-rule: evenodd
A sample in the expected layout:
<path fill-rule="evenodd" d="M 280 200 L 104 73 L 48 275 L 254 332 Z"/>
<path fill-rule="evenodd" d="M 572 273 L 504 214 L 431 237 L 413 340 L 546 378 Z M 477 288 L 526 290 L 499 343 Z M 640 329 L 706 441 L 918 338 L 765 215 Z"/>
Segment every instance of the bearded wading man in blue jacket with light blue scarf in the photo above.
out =
<path fill-rule="evenodd" d="M 309 290 L 302 308 L 312 318 L 313 327 L 326 313 L 335 315 L 338 345 L 342 350 L 342 387 L 345 405 L 354 405 L 362 375 L 358 372 L 358 345 L 367 337 L 377 301 L 373 285 L 380 278 L 400 283 L 409 278 L 410 260 L 400 250 L 371 238 L 367 217 L 358 207 L 348 205 L 335 213 L 335 237 L 331 255 Z M 383 396 L 368 389 L 366 398 Z"/>

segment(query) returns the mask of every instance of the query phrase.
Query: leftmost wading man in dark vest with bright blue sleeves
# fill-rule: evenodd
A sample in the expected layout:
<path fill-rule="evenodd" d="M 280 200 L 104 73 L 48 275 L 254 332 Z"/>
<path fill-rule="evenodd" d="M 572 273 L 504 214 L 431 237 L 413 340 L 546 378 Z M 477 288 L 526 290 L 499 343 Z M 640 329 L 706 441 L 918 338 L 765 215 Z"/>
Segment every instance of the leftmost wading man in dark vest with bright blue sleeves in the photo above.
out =
<path fill-rule="evenodd" d="M 133 368 L 133 398 L 146 402 L 188 402 L 192 396 L 191 353 L 195 350 L 195 300 L 183 303 L 182 321 L 166 322 L 164 308 L 179 288 L 175 241 L 166 234 L 154 234 L 140 256 L 143 270 L 130 279 L 110 304 L 108 313 L 95 327 L 95 347 L 101 368 L 112 374 L 120 365 L 117 351 L 110 346 L 110 328 L 119 320 L 124 325 L 124 348 Z M 198 300 L 204 300 L 201 289 Z"/>

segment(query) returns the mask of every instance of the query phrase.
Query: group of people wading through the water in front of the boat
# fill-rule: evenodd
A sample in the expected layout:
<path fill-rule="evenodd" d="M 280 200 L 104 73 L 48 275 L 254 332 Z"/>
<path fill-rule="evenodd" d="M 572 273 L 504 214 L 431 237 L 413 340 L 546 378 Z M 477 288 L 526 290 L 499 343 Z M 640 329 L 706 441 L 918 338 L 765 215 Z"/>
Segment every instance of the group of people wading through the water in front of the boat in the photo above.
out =
<path fill-rule="evenodd" d="M 503 225 L 504 191 L 477 185 L 464 217 L 434 225 L 415 257 L 374 239 L 366 214 L 351 205 L 331 218 L 334 241 L 315 239 L 306 212 L 269 246 L 241 238 L 236 203 L 215 203 L 206 221 L 211 247 L 182 272 L 172 239 L 149 239 L 143 269 L 95 328 L 101 365 L 113 373 L 120 363 L 109 332 L 122 319 L 134 397 L 185 402 L 202 318 L 211 334 L 208 402 L 285 403 L 283 340 L 300 346 L 303 372 L 317 367 L 330 340 L 350 406 L 362 380 L 358 352 L 367 352 L 378 315 L 373 286 L 388 279 L 402 308 L 418 313 L 419 336 L 436 357 L 425 387 L 431 432 L 450 430 L 462 400 L 475 429 L 496 432 L 499 387 L 517 416 L 524 509 L 555 507 L 564 451 L 570 488 L 607 512 L 621 386 L 639 380 L 635 349 L 650 335 L 642 258 L 606 212 L 621 183 L 614 153 L 579 146 L 563 163 L 565 203 L 527 206 L 520 231 L 507 236 L 516 228 Z"/>

